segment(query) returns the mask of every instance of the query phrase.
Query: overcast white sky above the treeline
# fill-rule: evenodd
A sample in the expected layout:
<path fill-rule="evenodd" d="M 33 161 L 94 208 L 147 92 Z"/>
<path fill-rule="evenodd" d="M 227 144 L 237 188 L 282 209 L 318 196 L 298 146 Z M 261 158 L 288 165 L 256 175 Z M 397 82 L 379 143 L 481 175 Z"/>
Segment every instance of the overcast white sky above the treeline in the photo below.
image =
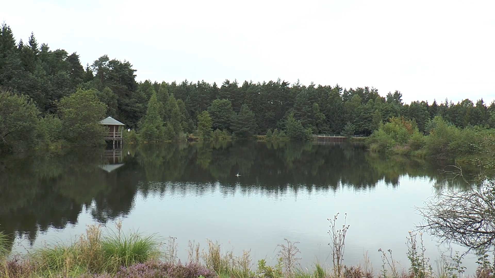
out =
<path fill-rule="evenodd" d="M 5 1 L 16 39 L 128 60 L 137 79 L 299 79 L 495 99 L 495 1 Z"/>

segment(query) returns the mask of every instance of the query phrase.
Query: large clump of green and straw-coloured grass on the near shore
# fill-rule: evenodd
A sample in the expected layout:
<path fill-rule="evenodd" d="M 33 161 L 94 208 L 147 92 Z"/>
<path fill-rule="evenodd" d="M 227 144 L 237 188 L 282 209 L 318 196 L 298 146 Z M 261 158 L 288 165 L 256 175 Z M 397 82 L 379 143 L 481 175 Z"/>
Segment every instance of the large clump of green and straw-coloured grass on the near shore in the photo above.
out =
<path fill-rule="evenodd" d="M 120 224 L 118 224 L 118 227 Z M 74 277 L 84 273 L 116 273 L 120 267 L 158 259 L 161 243 L 154 235 L 118 232 L 103 236 L 99 226 L 89 226 L 86 234 L 70 245 L 55 243 L 31 253 L 37 273 Z"/>

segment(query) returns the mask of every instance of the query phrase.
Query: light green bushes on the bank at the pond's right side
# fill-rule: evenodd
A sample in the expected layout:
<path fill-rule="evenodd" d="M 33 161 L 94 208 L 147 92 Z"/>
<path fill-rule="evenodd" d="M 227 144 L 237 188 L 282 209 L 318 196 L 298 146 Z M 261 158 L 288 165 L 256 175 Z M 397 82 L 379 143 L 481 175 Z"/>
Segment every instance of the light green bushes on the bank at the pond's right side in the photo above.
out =
<path fill-rule="evenodd" d="M 426 135 L 419 132 L 414 121 L 393 118 L 365 141 L 372 152 L 452 159 L 494 168 L 495 129 L 480 126 L 461 129 L 437 116 L 427 123 L 425 132 Z"/>

